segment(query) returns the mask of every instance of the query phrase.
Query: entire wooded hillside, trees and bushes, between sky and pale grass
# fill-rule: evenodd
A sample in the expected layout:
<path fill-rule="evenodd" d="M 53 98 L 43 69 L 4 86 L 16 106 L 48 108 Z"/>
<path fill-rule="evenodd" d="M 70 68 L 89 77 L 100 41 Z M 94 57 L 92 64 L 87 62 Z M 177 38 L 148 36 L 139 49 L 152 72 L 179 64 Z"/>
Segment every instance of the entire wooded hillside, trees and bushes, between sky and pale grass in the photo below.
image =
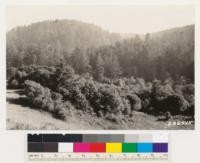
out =
<path fill-rule="evenodd" d="M 136 111 L 194 120 L 194 25 L 133 36 L 74 20 L 12 29 L 7 88 L 62 120 L 77 110 L 117 124 Z"/>

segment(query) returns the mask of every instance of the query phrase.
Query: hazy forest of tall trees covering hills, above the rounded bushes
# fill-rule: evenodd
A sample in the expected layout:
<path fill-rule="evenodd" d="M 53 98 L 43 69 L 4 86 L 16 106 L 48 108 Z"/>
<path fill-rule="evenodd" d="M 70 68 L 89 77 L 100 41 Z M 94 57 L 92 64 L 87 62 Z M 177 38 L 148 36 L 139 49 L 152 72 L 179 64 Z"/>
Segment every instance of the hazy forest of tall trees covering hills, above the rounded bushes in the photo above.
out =
<path fill-rule="evenodd" d="M 131 76 L 194 81 L 194 25 L 133 36 L 75 20 L 17 27 L 7 33 L 7 67 L 64 64 L 97 81 Z"/>

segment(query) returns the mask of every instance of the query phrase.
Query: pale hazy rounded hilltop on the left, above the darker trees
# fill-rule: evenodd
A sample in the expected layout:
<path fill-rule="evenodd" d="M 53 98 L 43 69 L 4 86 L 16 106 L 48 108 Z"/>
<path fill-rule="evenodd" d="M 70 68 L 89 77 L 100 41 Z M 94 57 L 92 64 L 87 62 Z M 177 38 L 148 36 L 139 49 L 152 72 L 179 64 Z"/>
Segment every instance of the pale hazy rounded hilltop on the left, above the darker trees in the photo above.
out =
<path fill-rule="evenodd" d="M 99 47 L 113 44 L 119 39 L 119 34 L 109 33 L 93 24 L 76 20 L 49 20 L 10 30 L 7 33 L 7 46 L 12 42 L 17 47 L 36 44 L 47 48 L 51 45 L 72 52 L 75 47 Z"/>

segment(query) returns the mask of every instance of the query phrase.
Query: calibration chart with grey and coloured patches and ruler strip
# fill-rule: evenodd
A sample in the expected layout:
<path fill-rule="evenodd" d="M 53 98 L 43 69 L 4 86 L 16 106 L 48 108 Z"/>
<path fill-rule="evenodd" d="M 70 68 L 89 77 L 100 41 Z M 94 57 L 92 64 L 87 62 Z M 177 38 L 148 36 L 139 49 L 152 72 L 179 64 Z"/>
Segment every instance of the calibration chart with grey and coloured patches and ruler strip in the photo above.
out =
<path fill-rule="evenodd" d="M 168 163 L 168 134 L 28 134 L 28 162 Z"/>

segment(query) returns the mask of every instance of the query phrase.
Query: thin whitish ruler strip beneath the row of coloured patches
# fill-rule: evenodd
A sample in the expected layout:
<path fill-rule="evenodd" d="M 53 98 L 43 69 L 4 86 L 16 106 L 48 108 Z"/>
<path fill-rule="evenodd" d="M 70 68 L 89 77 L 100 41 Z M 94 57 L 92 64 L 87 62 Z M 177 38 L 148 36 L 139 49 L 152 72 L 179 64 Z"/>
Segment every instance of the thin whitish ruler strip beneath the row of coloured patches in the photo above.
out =
<path fill-rule="evenodd" d="M 168 154 L 134 153 L 29 153 L 29 161 L 69 161 L 69 160 L 168 160 Z"/>

